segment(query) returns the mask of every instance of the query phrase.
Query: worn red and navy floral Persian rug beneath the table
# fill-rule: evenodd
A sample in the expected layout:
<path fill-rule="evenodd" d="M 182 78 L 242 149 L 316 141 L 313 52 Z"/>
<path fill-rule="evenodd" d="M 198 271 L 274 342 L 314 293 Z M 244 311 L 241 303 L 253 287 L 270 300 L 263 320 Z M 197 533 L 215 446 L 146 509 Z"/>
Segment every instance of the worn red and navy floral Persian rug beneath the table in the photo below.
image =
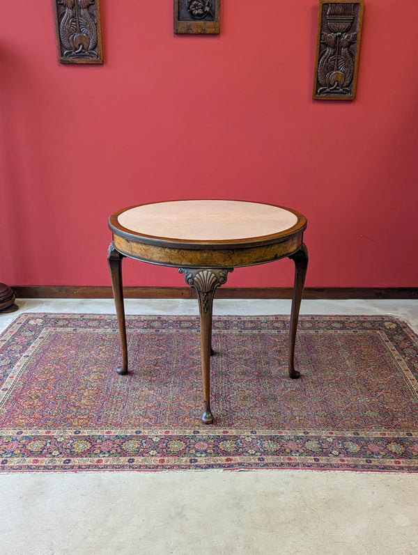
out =
<path fill-rule="evenodd" d="M 418 470 L 418 337 L 386 316 L 213 319 L 203 425 L 199 318 L 26 313 L 0 336 L 0 469 Z"/>

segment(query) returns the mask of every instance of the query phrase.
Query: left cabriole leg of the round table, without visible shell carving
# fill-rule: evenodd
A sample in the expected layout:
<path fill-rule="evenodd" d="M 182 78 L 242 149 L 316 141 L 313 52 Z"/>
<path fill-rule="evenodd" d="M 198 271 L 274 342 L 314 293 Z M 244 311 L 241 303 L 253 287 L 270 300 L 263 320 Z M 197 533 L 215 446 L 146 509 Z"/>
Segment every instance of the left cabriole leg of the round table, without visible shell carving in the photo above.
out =
<path fill-rule="evenodd" d="M 123 286 L 122 286 L 122 259 L 123 254 L 116 251 L 114 243 L 109 244 L 107 261 L 111 275 L 111 287 L 114 294 L 116 315 L 118 317 L 119 336 L 121 337 L 122 364 L 117 369 L 118 374 L 127 374 L 127 344 L 126 344 L 126 324 L 125 306 L 123 305 Z"/>

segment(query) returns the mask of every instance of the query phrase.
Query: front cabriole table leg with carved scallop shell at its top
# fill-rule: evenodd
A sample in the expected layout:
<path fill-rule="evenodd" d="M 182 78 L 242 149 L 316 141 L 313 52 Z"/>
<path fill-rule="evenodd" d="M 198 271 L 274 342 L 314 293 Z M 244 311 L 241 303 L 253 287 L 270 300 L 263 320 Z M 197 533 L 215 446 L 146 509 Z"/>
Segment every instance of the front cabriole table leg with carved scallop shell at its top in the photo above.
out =
<path fill-rule="evenodd" d="M 185 274 L 186 283 L 196 290 L 199 299 L 199 315 L 201 328 L 201 364 L 203 380 L 203 424 L 211 424 L 213 415 L 210 409 L 210 354 L 213 353 L 212 343 L 212 308 L 215 290 L 226 283 L 228 272 L 231 268 L 222 269 L 190 269 L 179 268 Z"/>

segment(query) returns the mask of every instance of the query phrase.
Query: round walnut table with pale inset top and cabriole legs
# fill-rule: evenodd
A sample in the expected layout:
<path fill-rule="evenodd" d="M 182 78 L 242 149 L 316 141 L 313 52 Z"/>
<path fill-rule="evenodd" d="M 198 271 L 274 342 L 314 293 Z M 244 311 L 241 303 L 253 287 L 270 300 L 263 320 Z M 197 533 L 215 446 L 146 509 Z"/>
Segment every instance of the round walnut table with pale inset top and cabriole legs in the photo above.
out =
<path fill-rule="evenodd" d="M 178 267 L 196 290 L 201 327 L 203 423 L 212 423 L 210 355 L 212 303 L 215 290 L 236 267 L 254 266 L 280 258 L 295 263 L 295 284 L 289 329 L 288 372 L 295 370 L 295 338 L 304 279 L 308 266 L 303 233 L 307 219 L 299 212 L 270 204 L 244 201 L 170 201 L 125 208 L 112 214 L 109 228 L 109 269 L 121 336 L 122 364 L 127 373 L 127 343 L 121 262 L 123 257 Z"/>

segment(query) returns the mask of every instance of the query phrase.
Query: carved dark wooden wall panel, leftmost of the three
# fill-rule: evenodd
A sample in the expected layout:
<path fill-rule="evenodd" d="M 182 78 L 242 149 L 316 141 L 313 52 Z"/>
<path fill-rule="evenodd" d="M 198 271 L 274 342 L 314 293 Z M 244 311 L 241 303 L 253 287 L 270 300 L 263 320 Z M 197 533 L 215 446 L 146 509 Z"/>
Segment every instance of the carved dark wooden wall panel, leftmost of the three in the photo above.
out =
<path fill-rule="evenodd" d="M 103 63 L 99 0 L 54 0 L 61 63 Z"/>

